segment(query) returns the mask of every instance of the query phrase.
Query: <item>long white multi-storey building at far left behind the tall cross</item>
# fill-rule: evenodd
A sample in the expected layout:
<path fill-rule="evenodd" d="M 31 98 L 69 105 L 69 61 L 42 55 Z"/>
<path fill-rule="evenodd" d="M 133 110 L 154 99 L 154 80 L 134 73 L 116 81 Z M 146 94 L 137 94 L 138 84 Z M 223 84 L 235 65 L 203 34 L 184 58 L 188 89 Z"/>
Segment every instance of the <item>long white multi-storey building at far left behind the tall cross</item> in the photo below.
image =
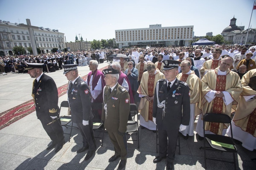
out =
<path fill-rule="evenodd" d="M 29 30 L 24 25 L 0 20 L 0 55 L 13 55 L 12 49 L 15 46 L 24 47 L 28 53 L 27 47 L 32 47 L 33 44 Z M 64 33 L 50 28 L 31 27 L 33 27 L 32 38 L 42 53 L 51 52 L 53 48 L 64 50 Z"/>

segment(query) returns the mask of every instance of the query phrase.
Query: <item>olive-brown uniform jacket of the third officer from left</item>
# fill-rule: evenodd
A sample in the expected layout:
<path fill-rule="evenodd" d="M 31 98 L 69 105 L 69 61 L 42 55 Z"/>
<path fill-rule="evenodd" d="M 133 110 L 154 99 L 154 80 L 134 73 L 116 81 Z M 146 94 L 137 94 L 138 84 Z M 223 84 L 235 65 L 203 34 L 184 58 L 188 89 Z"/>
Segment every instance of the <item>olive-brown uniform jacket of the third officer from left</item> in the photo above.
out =
<path fill-rule="evenodd" d="M 104 100 L 102 105 L 101 120 L 108 132 L 126 132 L 128 116 L 130 113 L 129 93 L 118 83 L 109 94 L 110 86 L 106 86 L 103 92 Z M 107 104 L 107 115 L 104 105 Z"/>

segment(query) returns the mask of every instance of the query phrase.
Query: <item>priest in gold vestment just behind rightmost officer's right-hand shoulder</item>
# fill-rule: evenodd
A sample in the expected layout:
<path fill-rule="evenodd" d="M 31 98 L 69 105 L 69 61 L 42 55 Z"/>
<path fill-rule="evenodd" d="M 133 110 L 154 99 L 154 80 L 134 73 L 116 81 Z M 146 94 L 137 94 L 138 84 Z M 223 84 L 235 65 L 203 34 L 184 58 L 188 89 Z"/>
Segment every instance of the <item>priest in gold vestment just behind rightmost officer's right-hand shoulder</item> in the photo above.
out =
<path fill-rule="evenodd" d="M 188 84 L 190 93 L 190 122 L 189 125 L 186 126 L 186 129 L 180 132 L 184 136 L 184 139 L 188 139 L 189 136 L 194 136 L 195 106 L 200 100 L 201 80 L 197 77 L 197 75 L 195 75 L 193 70 L 190 70 L 190 61 L 182 61 L 180 67 L 181 73 L 179 73 L 176 77 L 177 79 Z"/>

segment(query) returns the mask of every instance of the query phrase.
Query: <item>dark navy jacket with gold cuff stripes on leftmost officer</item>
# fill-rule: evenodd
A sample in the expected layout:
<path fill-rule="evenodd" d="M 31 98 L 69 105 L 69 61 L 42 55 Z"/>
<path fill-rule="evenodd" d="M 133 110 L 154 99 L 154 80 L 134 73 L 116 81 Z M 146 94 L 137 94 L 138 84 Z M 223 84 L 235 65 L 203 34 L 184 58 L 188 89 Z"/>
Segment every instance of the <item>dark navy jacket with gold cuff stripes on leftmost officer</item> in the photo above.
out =
<path fill-rule="evenodd" d="M 32 95 L 34 95 L 37 119 L 45 116 L 58 116 L 60 111 L 58 90 L 52 77 L 43 73 L 39 81 L 34 83 Z"/>

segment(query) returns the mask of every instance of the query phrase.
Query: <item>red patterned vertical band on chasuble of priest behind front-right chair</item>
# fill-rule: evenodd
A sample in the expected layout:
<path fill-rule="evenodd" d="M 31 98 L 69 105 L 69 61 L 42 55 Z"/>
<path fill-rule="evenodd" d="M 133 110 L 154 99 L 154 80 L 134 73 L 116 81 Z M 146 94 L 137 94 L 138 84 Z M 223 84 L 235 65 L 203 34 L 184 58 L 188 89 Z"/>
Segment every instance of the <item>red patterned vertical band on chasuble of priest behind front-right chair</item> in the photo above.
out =
<path fill-rule="evenodd" d="M 226 88 L 226 75 L 217 75 L 215 91 L 223 92 Z M 222 114 L 223 111 L 223 98 L 216 97 L 213 102 L 212 113 Z M 217 134 L 220 123 L 211 122 L 210 131 Z"/>

